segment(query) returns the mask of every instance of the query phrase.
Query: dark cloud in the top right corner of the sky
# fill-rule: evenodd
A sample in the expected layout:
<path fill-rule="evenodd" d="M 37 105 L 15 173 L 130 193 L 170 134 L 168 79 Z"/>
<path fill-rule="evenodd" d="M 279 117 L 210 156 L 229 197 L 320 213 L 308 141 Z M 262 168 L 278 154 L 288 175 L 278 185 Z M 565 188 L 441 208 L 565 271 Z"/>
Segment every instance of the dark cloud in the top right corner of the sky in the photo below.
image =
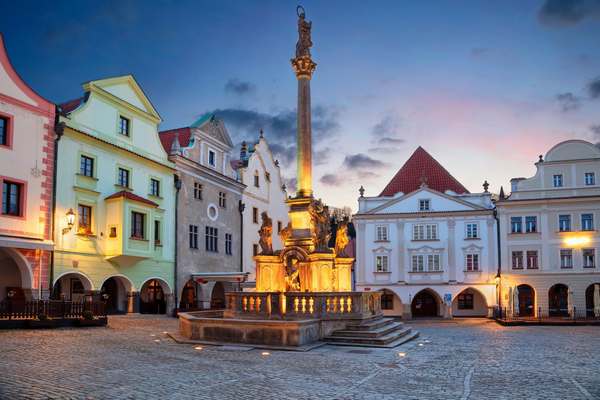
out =
<path fill-rule="evenodd" d="M 539 23 L 557 28 L 574 26 L 585 19 L 600 19 L 600 1 L 546 0 L 538 10 Z"/>

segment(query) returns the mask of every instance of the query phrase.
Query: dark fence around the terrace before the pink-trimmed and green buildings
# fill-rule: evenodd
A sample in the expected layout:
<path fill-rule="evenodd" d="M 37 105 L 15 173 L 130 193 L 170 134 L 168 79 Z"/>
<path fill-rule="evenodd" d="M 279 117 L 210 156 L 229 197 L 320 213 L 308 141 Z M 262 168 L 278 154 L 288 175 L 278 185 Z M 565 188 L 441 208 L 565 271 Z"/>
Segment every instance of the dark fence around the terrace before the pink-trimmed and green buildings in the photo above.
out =
<path fill-rule="evenodd" d="M 106 317 L 106 302 L 61 300 L 0 300 L 0 319 L 34 318 L 46 314 L 51 318 L 80 318 L 83 311 Z"/>

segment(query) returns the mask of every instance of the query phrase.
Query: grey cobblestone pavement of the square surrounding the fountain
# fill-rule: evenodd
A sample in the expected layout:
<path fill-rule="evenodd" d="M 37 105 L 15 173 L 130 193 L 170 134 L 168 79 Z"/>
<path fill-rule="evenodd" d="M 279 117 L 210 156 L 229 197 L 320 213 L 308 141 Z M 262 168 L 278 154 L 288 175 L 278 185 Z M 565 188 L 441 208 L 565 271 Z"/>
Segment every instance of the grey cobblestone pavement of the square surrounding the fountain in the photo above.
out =
<path fill-rule="evenodd" d="M 393 350 L 269 354 L 196 350 L 163 333 L 178 330 L 176 318 L 158 315 L 113 316 L 108 327 L 0 330 L 0 398 L 600 398 L 598 327 L 484 319 L 407 326 L 421 337 Z"/>

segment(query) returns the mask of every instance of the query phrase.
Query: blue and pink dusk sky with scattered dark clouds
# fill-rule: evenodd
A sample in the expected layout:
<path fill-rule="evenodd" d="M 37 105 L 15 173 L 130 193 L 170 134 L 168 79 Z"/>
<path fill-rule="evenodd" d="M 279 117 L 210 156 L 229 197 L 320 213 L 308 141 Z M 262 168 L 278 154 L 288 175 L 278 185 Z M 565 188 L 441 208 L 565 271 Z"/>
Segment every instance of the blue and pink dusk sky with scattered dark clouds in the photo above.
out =
<path fill-rule="evenodd" d="M 7 2 L 20 76 L 54 103 L 133 74 L 163 118 L 262 128 L 295 187 L 297 2 Z M 312 20 L 313 191 L 357 209 L 418 146 L 469 191 L 535 174 L 563 140 L 600 142 L 600 1 L 303 1 Z M 237 155 L 237 149 L 235 154 Z M 418 179 L 418 177 L 415 177 Z"/>

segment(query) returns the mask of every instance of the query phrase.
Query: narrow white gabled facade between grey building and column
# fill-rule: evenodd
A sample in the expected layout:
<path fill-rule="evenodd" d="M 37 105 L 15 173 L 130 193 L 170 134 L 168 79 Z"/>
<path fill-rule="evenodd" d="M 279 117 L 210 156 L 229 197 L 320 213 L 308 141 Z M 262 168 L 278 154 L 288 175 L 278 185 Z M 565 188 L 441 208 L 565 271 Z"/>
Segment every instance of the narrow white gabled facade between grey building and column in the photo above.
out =
<path fill-rule="evenodd" d="M 281 184 L 281 168 L 271 151 L 269 143 L 260 131 L 260 137 L 246 148 L 242 143 L 240 160 L 235 164 L 242 184 L 246 185 L 242 193 L 242 203 L 245 209 L 242 214 L 244 221 L 243 263 L 244 270 L 250 272 L 250 281 L 246 287 L 253 287 L 256 279 L 256 265 L 252 257 L 260 252 L 258 233 L 263 211 L 273 220 L 273 250 L 283 249 L 283 242 L 278 231 L 285 228 L 290 221 L 289 208 L 286 204 L 287 192 Z"/>

